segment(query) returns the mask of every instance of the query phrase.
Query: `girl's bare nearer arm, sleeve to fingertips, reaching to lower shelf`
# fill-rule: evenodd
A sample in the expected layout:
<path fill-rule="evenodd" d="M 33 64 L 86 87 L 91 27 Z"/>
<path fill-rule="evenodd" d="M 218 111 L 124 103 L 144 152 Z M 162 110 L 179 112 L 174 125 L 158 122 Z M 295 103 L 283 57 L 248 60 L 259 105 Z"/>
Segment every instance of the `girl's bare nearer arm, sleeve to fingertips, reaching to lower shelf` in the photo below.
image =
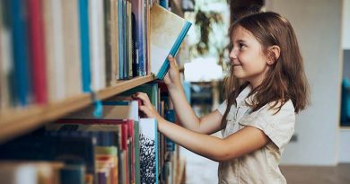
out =
<path fill-rule="evenodd" d="M 140 110 L 148 118 L 156 118 L 158 129 L 163 135 L 188 150 L 205 156 L 216 162 L 228 161 L 251 153 L 267 145 L 269 138 L 256 127 L 244 127 L 240 131 L 226 138 L 218 138 L 200 134 L 184 127 L 173 124 L 162 118 L 144 93 L 137 93 L 135 97 L 144 101 Z"/>

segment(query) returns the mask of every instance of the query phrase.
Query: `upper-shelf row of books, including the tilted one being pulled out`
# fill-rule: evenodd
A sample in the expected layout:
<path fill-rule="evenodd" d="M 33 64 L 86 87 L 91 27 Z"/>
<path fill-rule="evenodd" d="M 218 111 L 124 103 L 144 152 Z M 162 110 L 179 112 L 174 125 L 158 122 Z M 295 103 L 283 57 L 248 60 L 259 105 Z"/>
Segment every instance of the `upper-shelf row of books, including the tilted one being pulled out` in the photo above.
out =
<path fill-rule="evenodd" d="M 190 23 L 159 3 L 0 0 L 0 110 L 145 74 L 162 79 Z"/>

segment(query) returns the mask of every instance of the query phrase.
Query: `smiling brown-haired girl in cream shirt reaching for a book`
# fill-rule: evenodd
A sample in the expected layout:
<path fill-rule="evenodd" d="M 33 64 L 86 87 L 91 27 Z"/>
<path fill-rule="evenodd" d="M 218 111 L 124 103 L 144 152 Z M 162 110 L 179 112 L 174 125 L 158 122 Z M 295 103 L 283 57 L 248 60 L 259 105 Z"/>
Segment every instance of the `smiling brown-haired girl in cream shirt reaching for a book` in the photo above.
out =
<path fill-rule="evenodd" d="M 308 83 L 291 24 L 277 13 L 256 13 L 230 28 L 232 74 L 226 101 L 197 118 L 174 58 L 164 79 L 182 127 L 162 118 L 146 94 L 140 108 L 158 129 L 188 150 L 219 163 L 219 183 L 286 183 L 278 168 L 293 136 L 295 113 L 305 109 Z M 223 138 L 209 136 L 222 130 Z"/>

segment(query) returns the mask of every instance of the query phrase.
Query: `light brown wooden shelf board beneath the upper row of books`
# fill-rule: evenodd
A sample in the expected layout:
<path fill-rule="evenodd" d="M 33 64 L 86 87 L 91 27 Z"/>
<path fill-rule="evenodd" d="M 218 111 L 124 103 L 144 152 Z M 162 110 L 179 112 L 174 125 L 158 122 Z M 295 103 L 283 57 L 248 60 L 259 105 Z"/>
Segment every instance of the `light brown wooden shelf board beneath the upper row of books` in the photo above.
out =
<path fill-rule="evenodd" d="M 97 92 L 99 100 L 108 99 L 120 92 L 125 92 L 143 83 L 153 81 L 153 75 L 136 77 L 127 81 L 118 81 Z M 84 93 L 65 101 L 52 102 L 45 105 L 32 105 L 21 110 L 8 110 L 0 113 L 0 143 L 21 136 L 26 132 L 44 125 L 48 121 L 63 117 L 75 110 L 81 110 L 92 103 L 91 95 Z"/>

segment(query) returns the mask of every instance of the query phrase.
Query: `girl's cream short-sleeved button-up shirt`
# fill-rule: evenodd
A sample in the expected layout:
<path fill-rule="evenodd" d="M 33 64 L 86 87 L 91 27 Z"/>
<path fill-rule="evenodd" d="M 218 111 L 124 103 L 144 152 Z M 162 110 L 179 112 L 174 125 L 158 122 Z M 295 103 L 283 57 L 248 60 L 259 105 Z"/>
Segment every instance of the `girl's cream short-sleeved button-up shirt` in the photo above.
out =
<path fill-rule="evenodd" d="M 281 154 L 294 132 L 295 113 L 292 101 L 286 101 L 282 109 L 276 112 L 268 103 L 260 110 L 251 111 L 248 104 L 254 98 L 249 95 L 247 86 L 236 98 L 237 106 L 232 105 L 227 115 L 227 125 L 222 131 L 223 137 L 230 136 L 241 128 L 250 126 L 262 130 L 271 140 L 264 147 L 247 153 L 240 158 L 220 162 L 218 177 L 220 184 L 284 184 L 286 180 L 279 170 Z M 248 98 L 247 98 L 248 97 Z M 223 101 L 218 111 L 223 115 L 227 101 Z"/>

